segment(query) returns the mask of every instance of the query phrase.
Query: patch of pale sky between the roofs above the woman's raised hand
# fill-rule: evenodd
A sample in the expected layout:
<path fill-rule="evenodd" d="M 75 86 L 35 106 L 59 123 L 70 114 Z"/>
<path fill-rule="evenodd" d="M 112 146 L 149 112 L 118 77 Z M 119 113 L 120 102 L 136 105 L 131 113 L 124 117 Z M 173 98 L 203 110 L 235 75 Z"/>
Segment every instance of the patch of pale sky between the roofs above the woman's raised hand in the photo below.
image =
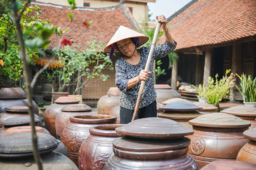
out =
<path fill-rule="evenodd" d="M 150 19 L 155 19 L 156 15 L 164 15 L 166 18 L 184 7 L 191 0 L 156 0 L 155 3 L 148 2 L 148 13 L 153 13 Z"/>

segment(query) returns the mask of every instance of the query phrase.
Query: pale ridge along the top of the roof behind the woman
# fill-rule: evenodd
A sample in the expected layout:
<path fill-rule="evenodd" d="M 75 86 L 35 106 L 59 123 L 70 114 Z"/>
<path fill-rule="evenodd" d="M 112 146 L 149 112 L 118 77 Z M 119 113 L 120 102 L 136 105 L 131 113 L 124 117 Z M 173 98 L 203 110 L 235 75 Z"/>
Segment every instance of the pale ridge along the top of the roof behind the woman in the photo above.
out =
<path fill-rule="evenodd" d="M 44 2 L 31 2 L 31 4 L 35 4 L 35 5 L 43 5 L 43 6 L 51 6 L 51 7 L 58 7 L 58 8 L 66 8 L 68 9 L 69 6 L 64 6 L 64 5 L 56 5 L 56 4 L 52 4 L 52 3 L 44 3 Z M 91 11 L 97 11 L 97 10 L 115 10 L 117 8 L 120 8 L 122 5 L 118 4 L 115 6 L 111 6 L 111 7 L 76 7 L 76 9 L 74 10 L 91 10 Z"/>

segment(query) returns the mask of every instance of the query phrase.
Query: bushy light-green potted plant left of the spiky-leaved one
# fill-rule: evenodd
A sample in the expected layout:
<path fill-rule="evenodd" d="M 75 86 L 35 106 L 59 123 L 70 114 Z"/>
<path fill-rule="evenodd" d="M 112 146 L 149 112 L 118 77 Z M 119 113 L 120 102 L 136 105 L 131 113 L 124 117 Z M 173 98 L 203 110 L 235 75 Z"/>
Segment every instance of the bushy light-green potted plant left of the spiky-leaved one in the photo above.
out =
<path fill-rule="evenodd" d="M 226 70 L 225 76 L 218 80 L 218 74 L 215 75 L 215 80 L 208 77 L 208 85 L 205 90 L 205 97 L 207 103 L 215 105 L 219 108 L 219 103 L 223 99 L 227 99 L 230 95 L 230 89 L 235 85 L 235 75 L 230 70 Z"/>

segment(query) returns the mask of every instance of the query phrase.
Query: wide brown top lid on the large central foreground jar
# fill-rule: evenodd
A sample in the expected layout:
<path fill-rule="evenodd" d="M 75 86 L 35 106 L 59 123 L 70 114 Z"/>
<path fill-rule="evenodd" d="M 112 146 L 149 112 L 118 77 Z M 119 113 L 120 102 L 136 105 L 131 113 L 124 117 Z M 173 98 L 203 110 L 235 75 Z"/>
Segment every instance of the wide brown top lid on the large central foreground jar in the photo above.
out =
<path fill-rule="evenodd" d="M 115 131 L 138 138 L 180 138 L 194 133 L 174 120 L 157 117 L 137 119 Z"/>

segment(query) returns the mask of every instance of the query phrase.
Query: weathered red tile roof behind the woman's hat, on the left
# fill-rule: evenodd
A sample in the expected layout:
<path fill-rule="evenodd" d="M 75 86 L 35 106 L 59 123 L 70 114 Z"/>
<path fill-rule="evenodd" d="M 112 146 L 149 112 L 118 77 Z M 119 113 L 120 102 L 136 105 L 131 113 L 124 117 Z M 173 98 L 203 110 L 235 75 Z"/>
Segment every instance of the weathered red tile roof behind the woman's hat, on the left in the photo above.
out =
<path fill-rule="evenodd" d="M 131 29 L 137 27 L 129 8 L 124 4 L 106 8 L 79 7 L 76 10 L 40 2 L 32 2 L 32 5 L 38 5 L 41 8 L 42 14 L 39 15 L 39 18 L 51 20 L 51 25 L 61 27 L 61 30 L 72 30 L 80 25 L 64 38 L 72 40 L 81 48 L 85 47 L 87 41 L 92 40 L 92 36 L 95 37 L 95 40 L 107 44 L 120 25 Z M 73 15 L 71 21 L 68 17 L 69 13 Z M 83 26 L 82 23 L 85 20 L 92 21 L 92 24 L 89 27 Z M 59 37 L 52 35 L 50 40 L 49 48 L 52 48 L 59 42 Z"/>

